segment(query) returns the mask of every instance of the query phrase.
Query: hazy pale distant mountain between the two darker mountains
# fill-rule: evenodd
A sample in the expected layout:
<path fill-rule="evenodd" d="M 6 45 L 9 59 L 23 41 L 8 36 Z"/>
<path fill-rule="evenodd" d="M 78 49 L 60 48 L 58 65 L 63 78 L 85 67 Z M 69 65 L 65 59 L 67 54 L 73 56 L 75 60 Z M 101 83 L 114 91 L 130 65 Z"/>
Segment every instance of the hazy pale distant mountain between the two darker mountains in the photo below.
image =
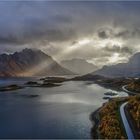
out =
<path fill-rule="evenodd" d="M 61 65 L 77 74 L 87 74 L 94 70 L 97 70 L 97 67 L 92 63 L 88 63 L 84 59 L 71 59 L 61 61 Z"/>

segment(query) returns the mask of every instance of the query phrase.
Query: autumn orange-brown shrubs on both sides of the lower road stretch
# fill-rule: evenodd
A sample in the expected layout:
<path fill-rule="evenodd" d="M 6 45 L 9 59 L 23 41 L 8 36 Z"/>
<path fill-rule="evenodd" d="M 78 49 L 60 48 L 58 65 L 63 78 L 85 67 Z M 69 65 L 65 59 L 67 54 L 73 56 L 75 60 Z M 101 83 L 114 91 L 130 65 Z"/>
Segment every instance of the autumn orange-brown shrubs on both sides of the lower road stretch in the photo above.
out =
<path fill-rule="evenodd" d="M 129 97 L 110 99 L 96 113 L 99 123 L 96 133 L 101 139 L 126 139 L 124 126 L 120 116 L 120 105 L 128 101 L 126 116 L 136 138 L 140 138 L 140 94 Z M 94 130 L 95 131 L 95 130 Z"/>

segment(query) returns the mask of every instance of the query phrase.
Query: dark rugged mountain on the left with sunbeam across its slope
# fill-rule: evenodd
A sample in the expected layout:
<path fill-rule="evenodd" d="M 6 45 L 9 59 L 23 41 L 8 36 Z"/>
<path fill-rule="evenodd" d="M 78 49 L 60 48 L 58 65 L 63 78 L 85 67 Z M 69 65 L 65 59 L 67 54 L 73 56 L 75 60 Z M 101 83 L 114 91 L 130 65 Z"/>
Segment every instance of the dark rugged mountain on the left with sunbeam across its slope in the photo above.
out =
<path fill-rule="evenodd" d="M 40 50 L 24 49 L 0 55 L 0 76 L 69 75 L 52 57 Z"/>

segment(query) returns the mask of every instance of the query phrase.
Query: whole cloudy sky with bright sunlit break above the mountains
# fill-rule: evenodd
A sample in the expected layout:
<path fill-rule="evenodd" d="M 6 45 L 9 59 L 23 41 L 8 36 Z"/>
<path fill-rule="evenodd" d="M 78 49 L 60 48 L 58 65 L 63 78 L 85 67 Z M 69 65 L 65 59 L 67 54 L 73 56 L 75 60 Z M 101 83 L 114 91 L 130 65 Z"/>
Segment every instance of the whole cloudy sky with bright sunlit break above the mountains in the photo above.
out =
<path fill-rule="evenodd" d="M 140 51 L 140 1 L 0 1 L 0 53 L 37 48 L 99 67 Z"/>

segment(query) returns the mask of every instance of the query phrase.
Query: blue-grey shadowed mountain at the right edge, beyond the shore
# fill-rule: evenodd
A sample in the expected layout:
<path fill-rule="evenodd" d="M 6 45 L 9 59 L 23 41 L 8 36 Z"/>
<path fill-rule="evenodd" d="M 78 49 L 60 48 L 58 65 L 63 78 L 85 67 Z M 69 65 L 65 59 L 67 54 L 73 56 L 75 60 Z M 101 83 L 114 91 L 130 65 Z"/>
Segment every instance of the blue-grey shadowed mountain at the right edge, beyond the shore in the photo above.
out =
<path fill-rule="evenodd" d="M 104 66 L 92 73 L 106 77 L 136 77 L 140 76 L 140 53 L 133 55 L 128 63 L 120 63 L 112 66 Z"/>

